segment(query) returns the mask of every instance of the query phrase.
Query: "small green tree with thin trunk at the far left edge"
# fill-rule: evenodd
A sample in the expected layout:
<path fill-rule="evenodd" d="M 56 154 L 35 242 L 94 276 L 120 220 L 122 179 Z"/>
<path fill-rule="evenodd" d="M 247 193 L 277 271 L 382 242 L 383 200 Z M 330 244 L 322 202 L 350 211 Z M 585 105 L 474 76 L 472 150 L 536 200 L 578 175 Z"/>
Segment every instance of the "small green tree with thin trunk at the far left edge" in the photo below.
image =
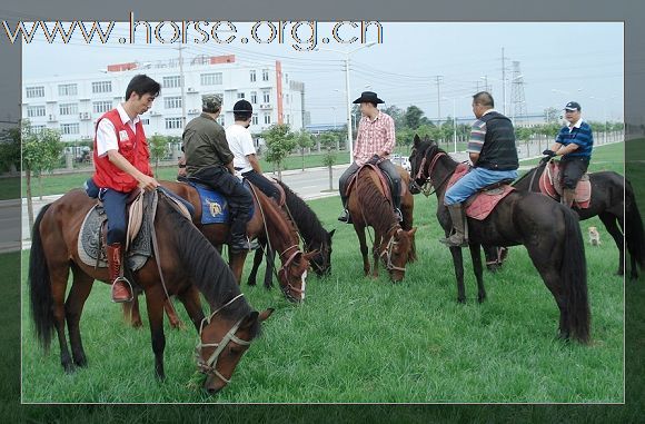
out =
<path fill-rule="evenodd" d="M 33 228 L 32 177 L 38 177 L 40 196 L 42 198 L 42 174 L 52 171 L 60 159 L 63 145 L 60 134 L 52 129 L 43 129 L 39 134 L 31 130 L 31 125 L 24 120 L 21 125 L 22 166 L 27 183 L 27 211 L 29 228 Z"/>

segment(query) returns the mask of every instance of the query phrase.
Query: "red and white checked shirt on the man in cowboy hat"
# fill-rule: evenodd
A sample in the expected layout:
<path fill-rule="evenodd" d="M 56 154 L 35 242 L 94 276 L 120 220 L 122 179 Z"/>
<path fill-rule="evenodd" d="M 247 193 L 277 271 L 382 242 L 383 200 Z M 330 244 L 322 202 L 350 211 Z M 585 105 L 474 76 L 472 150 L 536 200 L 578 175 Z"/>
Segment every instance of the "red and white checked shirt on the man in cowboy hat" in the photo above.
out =
<path fill-rule="evenodd" d="M 389 115 L 379 110 L 374 120 L 364 116 L 358 122 L 354 160 L 356 165 L 361 166 L 380 151 L 385 151 L 386 157 L 389 157 L 395 144 L 394 119 Z"/>

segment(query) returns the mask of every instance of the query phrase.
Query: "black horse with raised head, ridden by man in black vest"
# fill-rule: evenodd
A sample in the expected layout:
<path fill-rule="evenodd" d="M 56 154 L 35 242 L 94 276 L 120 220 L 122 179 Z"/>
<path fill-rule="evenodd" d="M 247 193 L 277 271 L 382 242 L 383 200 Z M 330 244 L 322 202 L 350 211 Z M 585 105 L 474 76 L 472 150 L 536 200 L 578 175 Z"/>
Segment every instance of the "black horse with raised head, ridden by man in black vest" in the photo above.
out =
<path fill-rule="evenodd" d="M 411 175 L 417 185 L 430 184 L 437 195 L 437 219 L 449 235 L 453 228 L 444 194 L 457 162 L 435 141 L 415 136 L 410 156 Z M 527 191 L 513 191 L 497 204 L 484 220 L 468 218 L 468 241 L 478 286 L 484 289 L 480 246 L 524 245 L 533 265 L 553 294 L 559 308 L 559 336 L 589 341 L 591 313 L 587 299 L 585 247 L 575 214 L 567 207 Z M 450 247 L 457 277 L 457 302 L 466 302 L 462 249 Z"/>

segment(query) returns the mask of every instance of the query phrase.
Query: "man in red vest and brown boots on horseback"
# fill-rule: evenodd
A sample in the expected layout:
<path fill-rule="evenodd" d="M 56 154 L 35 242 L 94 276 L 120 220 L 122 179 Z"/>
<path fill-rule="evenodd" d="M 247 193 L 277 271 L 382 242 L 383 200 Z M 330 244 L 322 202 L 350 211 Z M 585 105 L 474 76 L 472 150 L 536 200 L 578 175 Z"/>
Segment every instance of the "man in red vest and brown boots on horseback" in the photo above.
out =
<path fill-rule="evenodd" d="M 130 283 L 120 276 L 126 241 L 126 200 L 137 188 L 153 190 L 150 152 L 139 115 L 152 107 L 161 87 L 148 76 L 138 75 L 126 89 L 126 101 L 97 121 L 95 137 L 93 183 L 108 217 L 108 272 L 112 283 L 112 302 L 132 299 Z"/>

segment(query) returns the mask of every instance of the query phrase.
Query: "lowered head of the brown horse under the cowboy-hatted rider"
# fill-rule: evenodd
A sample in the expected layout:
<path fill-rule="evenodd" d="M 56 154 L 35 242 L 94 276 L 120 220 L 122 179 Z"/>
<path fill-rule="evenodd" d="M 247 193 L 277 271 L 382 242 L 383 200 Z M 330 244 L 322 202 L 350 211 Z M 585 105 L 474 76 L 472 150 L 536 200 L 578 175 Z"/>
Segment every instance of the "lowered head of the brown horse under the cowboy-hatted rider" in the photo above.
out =
<path fill-rule="evenodd" d="M 398 224 L 390 228 L 383 237 L 378 248 L 389 277 L 398 283 L 404 279 L 406 264 L 413 252 L 414 235 L 417 228 L 410 230 L 403 229 Z"/>

